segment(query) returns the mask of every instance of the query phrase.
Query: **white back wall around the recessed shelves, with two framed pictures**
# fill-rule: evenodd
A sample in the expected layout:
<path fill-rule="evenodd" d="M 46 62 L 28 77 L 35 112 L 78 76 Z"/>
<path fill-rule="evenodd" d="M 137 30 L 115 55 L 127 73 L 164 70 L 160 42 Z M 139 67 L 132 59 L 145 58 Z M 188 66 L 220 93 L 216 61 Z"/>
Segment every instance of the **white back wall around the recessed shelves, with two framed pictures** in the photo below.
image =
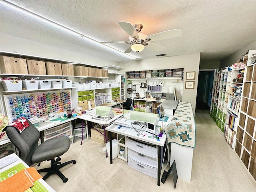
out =
<path fill-rule="evenodd" d="M 195 114 L 196 109 L 196 94 L 198 84 L 198 71 L 200 63 L 200 53 L 180 55 L 173 57 L 152 58 L 144 60 L 135 60 L 126 62 L 124 71 L 142 71 L 142 70 L 160 70 L 160 69 L 176 69 L 184 68 L 184 84 L 183 84 L 183 102 L 191 102 Z M 186 72 L 195 71 L 194 89 L 185 89 Z"/>

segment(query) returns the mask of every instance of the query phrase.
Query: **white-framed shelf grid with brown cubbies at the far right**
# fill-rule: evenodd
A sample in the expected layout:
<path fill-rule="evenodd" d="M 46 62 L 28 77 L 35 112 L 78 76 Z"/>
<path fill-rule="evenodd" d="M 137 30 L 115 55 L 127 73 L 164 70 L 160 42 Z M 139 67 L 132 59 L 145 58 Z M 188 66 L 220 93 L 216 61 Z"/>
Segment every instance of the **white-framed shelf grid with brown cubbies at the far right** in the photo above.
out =
<path fill-rule="evenodd" d="M 253 60 L 253 61 L 252 61 Z M 256 180 L 256 50 L 248 52 L 234 150 Z"/>

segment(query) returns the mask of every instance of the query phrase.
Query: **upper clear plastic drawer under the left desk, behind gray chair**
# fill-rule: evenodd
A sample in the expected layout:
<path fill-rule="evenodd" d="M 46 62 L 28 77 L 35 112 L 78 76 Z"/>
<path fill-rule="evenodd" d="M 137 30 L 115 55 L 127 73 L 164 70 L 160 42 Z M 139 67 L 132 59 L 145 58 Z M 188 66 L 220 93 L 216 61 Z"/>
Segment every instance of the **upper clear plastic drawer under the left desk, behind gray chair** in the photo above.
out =
<path fill-rule="evenodd" d="M 52 137 L 60 136 L 63 133 L 68 132 L 70 130 L 72 130 L 71 122 L 64 123 L 62 125 L 44 130 L 44 140 L 47 140 Z M 72 131 L 71 131 L 71 135 L 72 135 Z"/>

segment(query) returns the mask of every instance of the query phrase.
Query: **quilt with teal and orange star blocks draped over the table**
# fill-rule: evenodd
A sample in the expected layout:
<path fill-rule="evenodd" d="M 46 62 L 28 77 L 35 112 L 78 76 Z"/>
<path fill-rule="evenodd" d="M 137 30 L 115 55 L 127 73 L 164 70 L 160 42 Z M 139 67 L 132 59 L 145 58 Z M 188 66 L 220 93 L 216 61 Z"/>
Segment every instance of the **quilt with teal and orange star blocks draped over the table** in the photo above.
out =
<path fill-rule="evenodd" d="M 196 147 L 196 123 L 191 103 L 180 102 L 174 113 L 172 121 L 164 128 L 168 144 Z"/>

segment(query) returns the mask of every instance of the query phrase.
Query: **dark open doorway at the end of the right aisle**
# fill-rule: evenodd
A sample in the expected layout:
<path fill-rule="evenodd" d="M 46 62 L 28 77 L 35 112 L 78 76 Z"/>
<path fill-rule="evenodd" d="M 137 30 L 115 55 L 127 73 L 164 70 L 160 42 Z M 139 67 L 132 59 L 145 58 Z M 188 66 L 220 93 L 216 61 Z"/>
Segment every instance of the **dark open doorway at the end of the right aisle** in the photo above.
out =
<path fill-rule="evenodd" d="M 214 70 L 199 71 L 196 109 L 210 110 Z"/>

